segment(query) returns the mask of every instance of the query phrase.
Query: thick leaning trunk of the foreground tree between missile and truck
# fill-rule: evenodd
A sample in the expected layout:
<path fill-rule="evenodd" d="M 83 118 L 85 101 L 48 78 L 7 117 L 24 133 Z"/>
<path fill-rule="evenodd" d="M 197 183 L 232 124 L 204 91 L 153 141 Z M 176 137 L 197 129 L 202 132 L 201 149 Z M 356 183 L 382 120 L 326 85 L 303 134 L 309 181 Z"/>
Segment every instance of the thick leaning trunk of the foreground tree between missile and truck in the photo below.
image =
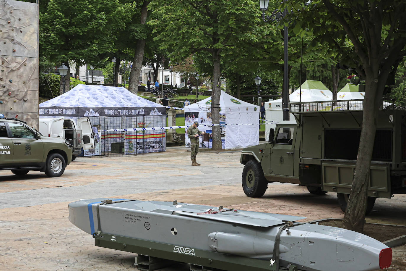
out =
<path fill-rule="evenodd" d="M 358 147 L 350 197 L 342 223 L 343 228 L 356 232 L 362 232 L 365 223 L 369 167 L 374 148 L 377 113 L 383 92 L 380 91 L 373 78 L 365 78 L 365 90 L 369 95 L 365 95 L 363 100 L 361 140 Z"/>

